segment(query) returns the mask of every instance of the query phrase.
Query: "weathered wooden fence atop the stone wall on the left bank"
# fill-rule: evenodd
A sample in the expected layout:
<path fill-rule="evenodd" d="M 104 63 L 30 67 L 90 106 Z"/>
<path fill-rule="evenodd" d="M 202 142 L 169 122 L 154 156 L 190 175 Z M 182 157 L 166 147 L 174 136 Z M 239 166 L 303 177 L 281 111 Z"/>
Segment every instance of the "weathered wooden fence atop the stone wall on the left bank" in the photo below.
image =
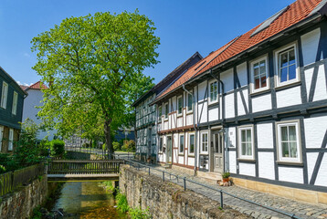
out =
<path fill-rule="evenodd" d="M 45 166 L 39 163 L 14 172 L 5 172 L 0 174 L 0 196 L 16 190 L 22 185 L 30 183 L 39 175 L 43 175 Z"/>

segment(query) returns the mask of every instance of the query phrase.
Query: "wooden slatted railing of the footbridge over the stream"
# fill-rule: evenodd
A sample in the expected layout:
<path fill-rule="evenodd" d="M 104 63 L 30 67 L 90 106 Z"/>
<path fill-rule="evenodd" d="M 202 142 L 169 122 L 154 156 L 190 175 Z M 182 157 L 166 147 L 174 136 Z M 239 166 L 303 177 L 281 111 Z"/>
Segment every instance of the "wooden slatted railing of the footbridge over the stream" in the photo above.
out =
<path fill-rule="evenodd" d="M 121 160 L 53 160 L 49 162 L 48 174 L 103 174 L 119 173 Z"/>

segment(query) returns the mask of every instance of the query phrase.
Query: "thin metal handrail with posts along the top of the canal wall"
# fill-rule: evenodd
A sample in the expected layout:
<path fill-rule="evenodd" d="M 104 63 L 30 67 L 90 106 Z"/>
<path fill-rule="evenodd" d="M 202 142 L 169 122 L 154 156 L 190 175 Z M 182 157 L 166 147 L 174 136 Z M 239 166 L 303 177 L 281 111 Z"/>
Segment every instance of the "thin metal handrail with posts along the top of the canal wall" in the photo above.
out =
<path fill-rule="evenodd" d="M 119 157 L 119 155 L 116 155 L 116 156 Z M 171 173 L 171 172 L 165 172 L 165 171 L 162 171 L 162 170 L 158 170 L 158 169 L 156 169 L 156 168 L 154 168 L 154 167 L 152 167 L 152 166 L 149 166 L 149 165 L 146 165 L 146 164 L 142 164 L 142 163 L 140 163 L 140 162 L 133 162 L 133 161 L 131 161 L 130 159 L 127 159 L 127 160 L 126 160 L 126 159 L 124 159 L 124 158 L 120 158 L 120 159 L 123 160 L 123 161 L 125 161 L 125 162 L 130 162 L 130 163 L 135 163 L 135 164 L 137 164 L 138 167 L 139 167 L 139 168 L 138 168 L 139 170 L 140 170 L 140 166 L 143 166 L 143 167 L 145 167 L 145 168 L 148 168 L 149 175 L 150 175 L 150 169 L 153 169 L 153 170 L 155 170 L 155 171 L 157 171 L 157 172 L 163 172 L 163 181 L 164 181 L 164 174 L 165 174 L 165 173 L 168 174 L 168 175 L 170 175 L 170 176 L 174 176 L 174 177 L 177 179 L 177 182 L 178 182 L 178 179 L 181 178 L 180 176 L 175 175 L 174 173 Z M 131 165 L 131 164 L 130 164 L 130 165 Z M 245 198 L 238 197 L 238 196 L 235 195 L 235 194 L 227 193 L 227 192 L 225 192 L 225 191 L 223 191 L 223 190 L 221 190 L 221 189 L 216 189 L 215 187 L 212 187 L 212 186 L 210 186 L 210 185 L 206 185 L 206 184 L 203 184 L 203 183 L 198 183 L 198 182 L 196 182 L 196 181 L 193 181 L 193 180 L 187 179 L 186 177 L 183 177 L 183 180 L 184 180 L 184 188 L 185 188 L 185 190 L 186 190 L 186 182 L 190 182 L 190 183 L 195 183 L 195 184 L 197 184 L 197 185 L 200 185 L 200 186 L 206 187 L 207 189 L 211 189 L 211 190 L 214 190 L 214 191 L 216 191 L 216 192 L 219 192 L 220 195 L 221 195 L 221 202 L 220 202 L 220 207 L 221 207 L 221 208 L 223 208 L 223 193 L 225 193 L 225 194 L 227 194 L 227 195 L 229 195 L 229 196 L 231 196 L 231 197 L 233 197 L 233 198 L 236 198 L 236 199 L 238 199 L 238 200 L 241 200 L 241 201 L 244 201 L 244 202 L 247 202 L 247 203 L 255 204 L 255 205 L 260 206 L 260 207 L 262 207 L 262 208 L 266 208 L 266 209 L 268 209 L 268 210 L 270 210 L 270 211 L 272 211 L 272 212 L 276 212 L 276 213 L 279 213 L 279 214 L 283 214 L 283 215 L 285 215 L 285 216 L 289 216 L 290 218 L 294 218 L 294 219 L 301 219 L 301 217 L 296 216 L 295 214 L 290 214 L 290 213 L 287 213 L 287 212 L 284 212 L 284 211 L 280 211 L 279 209 L 276 209 L 276 208 L 273 208 L 273 207 L 269 207 L 269 206 L 264 205 L 264 204 L 261 204 L 261 203 L 253 202 L 253 201 L 251 201 L 251 200 L 248 200 L 248 199 L 245 199 Z"/>

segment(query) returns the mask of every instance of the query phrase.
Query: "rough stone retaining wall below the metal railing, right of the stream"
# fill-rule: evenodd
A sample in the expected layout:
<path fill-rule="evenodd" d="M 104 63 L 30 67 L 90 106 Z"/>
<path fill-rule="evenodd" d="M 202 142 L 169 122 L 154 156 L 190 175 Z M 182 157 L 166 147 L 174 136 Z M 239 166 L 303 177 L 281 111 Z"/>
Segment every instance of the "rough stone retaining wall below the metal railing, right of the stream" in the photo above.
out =
<path fill-rule="evenodd" d="M 121 165 L 120 191 L 130 206 L 141 206 L 143 210 L 149 207 L 153 218 L 249 218 L 229 207 L 220 210 L 219 203 L 202 194 L 184 191 L 177 184 L 163 182 L 128 165 Z"/>

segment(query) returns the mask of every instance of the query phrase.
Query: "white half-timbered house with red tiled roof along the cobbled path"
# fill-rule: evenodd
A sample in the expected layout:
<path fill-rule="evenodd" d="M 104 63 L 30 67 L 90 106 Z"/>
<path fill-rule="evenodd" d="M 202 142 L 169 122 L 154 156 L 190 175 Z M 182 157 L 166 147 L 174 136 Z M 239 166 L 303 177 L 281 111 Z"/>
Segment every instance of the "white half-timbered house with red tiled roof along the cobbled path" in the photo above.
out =
<path fill-rule="evenodd" d="M 265 192 L 327 192 L 326 12 L 298 0 L 163 90 L 159 162 Z"/>

